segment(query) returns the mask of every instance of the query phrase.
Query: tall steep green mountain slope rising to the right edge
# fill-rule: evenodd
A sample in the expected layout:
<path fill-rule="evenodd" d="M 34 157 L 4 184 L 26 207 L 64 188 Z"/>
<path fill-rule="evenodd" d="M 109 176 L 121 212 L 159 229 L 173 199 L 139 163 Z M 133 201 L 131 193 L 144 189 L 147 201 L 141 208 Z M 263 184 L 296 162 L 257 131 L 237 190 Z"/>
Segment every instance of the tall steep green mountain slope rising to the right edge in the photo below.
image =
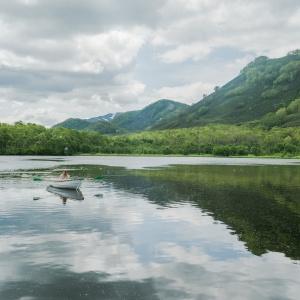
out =
<path fill-rule="evenodd" d="M 287 107 L 300 96 L 300 51 L 269 59 L 256 58 L 223 87 L 154 129 L 200 126 L 208 123 L 238 124 L 261 119 Z M 295 124 L 295 122 L 292 122 Z"/>

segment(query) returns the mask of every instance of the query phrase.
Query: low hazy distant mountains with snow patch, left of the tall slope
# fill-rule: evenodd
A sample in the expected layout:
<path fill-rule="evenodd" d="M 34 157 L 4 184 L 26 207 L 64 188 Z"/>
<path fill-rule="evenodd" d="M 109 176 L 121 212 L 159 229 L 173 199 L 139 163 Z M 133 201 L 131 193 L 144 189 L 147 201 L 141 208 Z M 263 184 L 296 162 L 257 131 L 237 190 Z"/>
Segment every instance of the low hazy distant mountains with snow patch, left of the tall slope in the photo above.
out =
<path fill-rule="evenodd" d="M 70 118 L 54 125 L 54 127 L 94 130 L 105 134 L 140 131 L 150 129 L 158 122 L 176 116 L 187 107 L 189 107 L 187 104 L 161 99 L 141 110 L 110 113 L 90 119 Z"/>

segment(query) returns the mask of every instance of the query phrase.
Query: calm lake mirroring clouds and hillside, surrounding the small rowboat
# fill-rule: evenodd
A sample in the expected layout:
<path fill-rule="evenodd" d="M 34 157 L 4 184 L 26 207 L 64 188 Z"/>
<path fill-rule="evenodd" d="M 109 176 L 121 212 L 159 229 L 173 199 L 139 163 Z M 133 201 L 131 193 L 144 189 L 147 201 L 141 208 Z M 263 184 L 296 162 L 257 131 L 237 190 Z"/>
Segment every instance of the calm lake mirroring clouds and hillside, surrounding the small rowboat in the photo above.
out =
<path fill-rule="evenodd" d="M 299 160 L 0 156 L 0 195 L 1 300 L 299 299 Z"/>

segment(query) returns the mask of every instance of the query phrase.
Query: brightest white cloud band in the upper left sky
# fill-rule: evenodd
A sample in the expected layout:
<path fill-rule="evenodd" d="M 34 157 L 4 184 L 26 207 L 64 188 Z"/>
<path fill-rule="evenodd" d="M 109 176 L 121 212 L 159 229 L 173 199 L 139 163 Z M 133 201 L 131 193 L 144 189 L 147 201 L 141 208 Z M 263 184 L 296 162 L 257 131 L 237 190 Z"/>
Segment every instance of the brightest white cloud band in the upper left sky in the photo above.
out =
<path fill-rule="evenodd" d="M 35 70 L 102 73 L 118 70 L 136 57 L 146 30 L 113 30 L 96 35 L 79 35 L 69 41 L 35 39 L 27 41 L 33 54 L 0 48 L 0 65 Z M 57 59 L 48 55 L 57 53 Z M 29 52 L 29 49 L 28 49 Z M 66 54 L 59 57 L 63 52 Z"/>

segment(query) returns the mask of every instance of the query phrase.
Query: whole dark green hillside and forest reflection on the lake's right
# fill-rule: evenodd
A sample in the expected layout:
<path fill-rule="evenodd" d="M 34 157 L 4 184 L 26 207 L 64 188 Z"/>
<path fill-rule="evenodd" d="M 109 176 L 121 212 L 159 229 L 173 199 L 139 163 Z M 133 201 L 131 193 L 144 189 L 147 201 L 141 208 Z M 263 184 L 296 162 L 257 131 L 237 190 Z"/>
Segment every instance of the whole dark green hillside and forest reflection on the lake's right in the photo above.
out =
<path fill-rule="evenodd" d="M 106 180 L 163 206 L 189 201 L 230 226 L 256 255 L 300 258 L 297 167 L 176 166 Z"/>

